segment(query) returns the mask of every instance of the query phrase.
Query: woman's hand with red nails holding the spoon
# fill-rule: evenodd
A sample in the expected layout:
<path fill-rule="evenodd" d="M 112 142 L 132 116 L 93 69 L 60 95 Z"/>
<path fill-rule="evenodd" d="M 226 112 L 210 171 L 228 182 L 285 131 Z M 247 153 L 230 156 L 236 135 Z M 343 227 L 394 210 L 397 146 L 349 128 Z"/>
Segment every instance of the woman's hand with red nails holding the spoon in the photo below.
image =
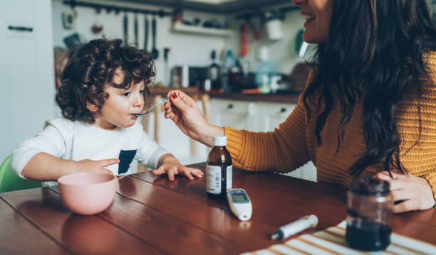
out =
<path fill-rule="evenodd" d="M 224 129 L 220 126 L 209 124 L 197 103 L 187 94 L 180 90 L 168 92 L 167 98 L 171 102 L 165 102 L 165 118 L 172 119 L 174 123 L 190 138 L 212 147 L 212 137 L 224 135 Z"/>

